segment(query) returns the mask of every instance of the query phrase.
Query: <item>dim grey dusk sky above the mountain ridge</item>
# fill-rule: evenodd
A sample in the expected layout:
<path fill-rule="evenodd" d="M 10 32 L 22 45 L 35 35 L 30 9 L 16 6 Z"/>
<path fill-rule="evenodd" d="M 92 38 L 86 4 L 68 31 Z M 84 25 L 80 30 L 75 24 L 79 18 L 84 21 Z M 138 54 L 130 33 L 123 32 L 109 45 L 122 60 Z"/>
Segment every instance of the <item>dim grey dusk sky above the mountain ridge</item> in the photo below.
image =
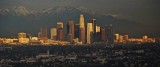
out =
<path fill-rule="evenodd" d="M 0 0 L 0 8 L 14 6 L 35 10 L 55 6 L 82 6 L 97 13 L 135 21 L 160 32 L 159 0 Z"/>

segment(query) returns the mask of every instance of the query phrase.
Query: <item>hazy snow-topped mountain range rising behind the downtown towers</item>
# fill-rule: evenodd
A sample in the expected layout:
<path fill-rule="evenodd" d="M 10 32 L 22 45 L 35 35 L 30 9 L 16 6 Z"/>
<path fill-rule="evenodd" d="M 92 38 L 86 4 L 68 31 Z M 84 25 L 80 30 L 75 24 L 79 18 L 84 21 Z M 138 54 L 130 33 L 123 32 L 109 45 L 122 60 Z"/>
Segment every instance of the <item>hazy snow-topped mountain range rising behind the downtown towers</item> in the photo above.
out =
<path fill-rule="evenodd" d="M 34 36 L 41 27 L 56 27 L 56 22 L 62 21 L 64 25 L 68 20 L 79 23 L 79 15 L 83 14 L 85 23 L 96 19 L 96 23 L 104 28 L 106 24 L 113 24 L 115 32 L 135 35 L 141 24 L 127 19 L 119 19 L 112 15 L 103 15 L 93 12 L 85 7 L 56 6 L 41 10 L 32 10 L 24 6 L 0 9 L 0 36 L 15 35 L 18 32 L 27 32 Z"/>

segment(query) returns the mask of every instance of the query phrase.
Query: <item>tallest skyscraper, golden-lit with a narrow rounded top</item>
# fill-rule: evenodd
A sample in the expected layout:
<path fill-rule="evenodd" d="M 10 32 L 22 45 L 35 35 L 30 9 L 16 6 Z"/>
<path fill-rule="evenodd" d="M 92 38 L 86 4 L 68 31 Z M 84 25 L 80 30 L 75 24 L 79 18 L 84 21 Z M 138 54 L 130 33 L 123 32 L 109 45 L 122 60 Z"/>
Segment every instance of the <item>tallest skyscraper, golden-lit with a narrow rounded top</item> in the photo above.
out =
<path fill-rule="evenodd" d="M 82 43 L 85 43 L 85 25 L 84 25 L 84 16 L 81 14 L 80 15 L 80 41 Z"/>

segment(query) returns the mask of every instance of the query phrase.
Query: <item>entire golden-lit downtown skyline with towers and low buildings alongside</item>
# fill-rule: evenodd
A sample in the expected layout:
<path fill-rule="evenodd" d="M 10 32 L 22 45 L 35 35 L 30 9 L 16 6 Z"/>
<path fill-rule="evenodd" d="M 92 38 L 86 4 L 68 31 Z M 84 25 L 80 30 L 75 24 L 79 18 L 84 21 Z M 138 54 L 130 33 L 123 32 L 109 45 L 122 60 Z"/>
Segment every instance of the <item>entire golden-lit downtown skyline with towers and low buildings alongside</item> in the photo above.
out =
<path fill-rule="evenodd" d="M 58 21 L 56 27 L 42 27 L 37 36 L 29 33 L 19 32 L 18 36 L 10 38 L 1 38 L 1 43 L 6 44 L 47 44 L 47 45 L 69 45 L 69 44 L 107 44 L 114 46 L 115 44 L 126 43 L 154 43 L 155 38 L 143 35 L 140 38 L 129 37 L 128 34 L 119 34 L 114 32 L 112 24 L 105 25 L 103 28 L 97 24 L 96 19 L 91 19 L 85 23 L 85 15 L 80 14 L 79 23 L 68 20 L 64 22 Z M 66 26 L 66 28 L 64 28 Z M 48 33 L 49 32 L 49 33 Z"/>

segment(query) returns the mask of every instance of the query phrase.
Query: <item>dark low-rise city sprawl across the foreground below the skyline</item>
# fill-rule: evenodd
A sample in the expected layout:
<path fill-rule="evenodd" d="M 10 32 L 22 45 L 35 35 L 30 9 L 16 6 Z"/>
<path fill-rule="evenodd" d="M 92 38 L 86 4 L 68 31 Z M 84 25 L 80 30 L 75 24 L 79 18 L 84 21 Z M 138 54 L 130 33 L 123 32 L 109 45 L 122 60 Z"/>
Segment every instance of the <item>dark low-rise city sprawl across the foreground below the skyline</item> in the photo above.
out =
<path fill-rule="evenodd" d="M 0 67 L 160 67 L 159 44 L 0 46 Z"/>

